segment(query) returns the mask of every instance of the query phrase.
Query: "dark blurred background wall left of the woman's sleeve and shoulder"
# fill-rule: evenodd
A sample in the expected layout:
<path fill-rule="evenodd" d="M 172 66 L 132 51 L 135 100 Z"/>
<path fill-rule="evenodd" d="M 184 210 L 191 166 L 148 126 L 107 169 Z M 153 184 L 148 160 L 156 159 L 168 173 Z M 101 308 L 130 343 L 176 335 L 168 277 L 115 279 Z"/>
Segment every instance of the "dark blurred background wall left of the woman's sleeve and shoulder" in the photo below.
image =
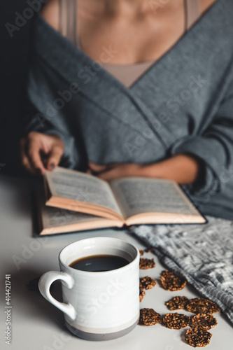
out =
<path fill-rule="evenodd" d="M 23 173 L 19 158 L 19 139 L 24 116 L 29 33 L 33 17 L 25 23 L 18 22 L 21 27 L 15 23 L 18 14 L 22 15 L 24 9 L 29 8 L 27 0 L 1 1 L 0 8 L 0 174 L 18 175 Z M 18 29 L 13 27 L 15 25 Z"/>

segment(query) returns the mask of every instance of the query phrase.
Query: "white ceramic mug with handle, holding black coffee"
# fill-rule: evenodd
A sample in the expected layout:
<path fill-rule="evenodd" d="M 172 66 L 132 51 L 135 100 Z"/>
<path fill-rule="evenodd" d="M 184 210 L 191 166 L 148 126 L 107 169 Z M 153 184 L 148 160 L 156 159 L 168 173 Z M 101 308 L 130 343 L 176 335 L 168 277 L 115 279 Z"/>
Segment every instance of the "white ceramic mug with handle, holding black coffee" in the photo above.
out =
<path fill-rule="evenodd" d="M 90 255 L 118 255 L 129 263 L 104 272 L 69 266 Z M 92 340 L 121 337 L 139 320 L 139 259 L 139 250 L 122 239 L 81 239 L 62 249 L 59 253 L 61 272 L 43 274 L 39 290 L 64 312 L 66 327 L 78 337 Z M 57 279 L 62 281 L 63 302 L 50 294 L 50 286 Z"/>

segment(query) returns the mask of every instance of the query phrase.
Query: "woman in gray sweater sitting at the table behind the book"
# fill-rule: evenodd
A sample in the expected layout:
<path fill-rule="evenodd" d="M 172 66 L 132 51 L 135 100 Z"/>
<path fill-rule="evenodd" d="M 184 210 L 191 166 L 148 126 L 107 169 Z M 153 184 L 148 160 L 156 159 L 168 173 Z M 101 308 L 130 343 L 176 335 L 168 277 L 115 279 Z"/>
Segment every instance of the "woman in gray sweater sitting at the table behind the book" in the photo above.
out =
<path fill-rule="evenodd" d="M 24 166 L 173 179 L 230 217 L 232 15 L 230 0 L 50 0 L 35 20 Z"/>

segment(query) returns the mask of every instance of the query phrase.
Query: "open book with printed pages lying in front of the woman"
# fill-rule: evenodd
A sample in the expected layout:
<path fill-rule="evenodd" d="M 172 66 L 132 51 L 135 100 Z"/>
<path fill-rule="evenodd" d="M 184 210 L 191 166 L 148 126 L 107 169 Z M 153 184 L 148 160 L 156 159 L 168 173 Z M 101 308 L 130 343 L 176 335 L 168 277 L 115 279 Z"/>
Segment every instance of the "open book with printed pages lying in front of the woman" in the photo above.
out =
<path fill-rule="evenodd" d="M 174 181 L 127 177 L 111 182 L 57 167 L 38 198 L 41 235 L 162 223 L 205 223 Z M 45 204 L 44 204 L 45 202 Z"/>

